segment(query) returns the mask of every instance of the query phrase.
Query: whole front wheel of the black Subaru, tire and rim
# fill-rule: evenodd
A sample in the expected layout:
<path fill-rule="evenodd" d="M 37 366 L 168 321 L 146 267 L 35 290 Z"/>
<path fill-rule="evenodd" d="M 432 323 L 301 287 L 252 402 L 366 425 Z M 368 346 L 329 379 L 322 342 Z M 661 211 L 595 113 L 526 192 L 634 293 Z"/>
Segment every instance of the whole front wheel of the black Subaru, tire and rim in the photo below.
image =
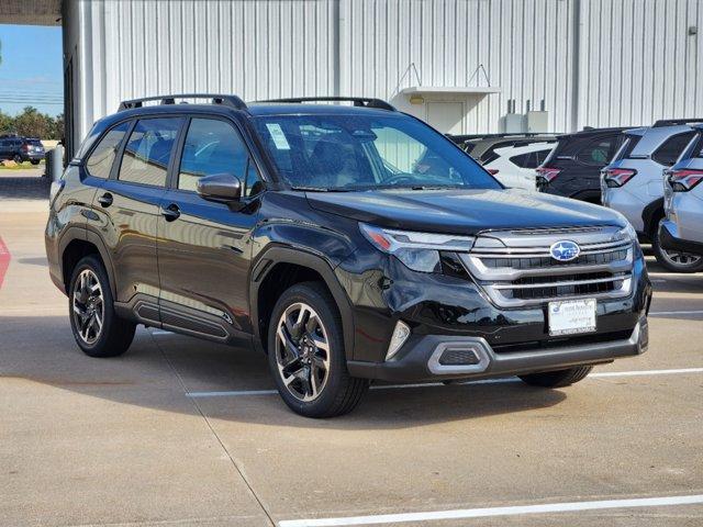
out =
<path fill-rule="evenodd" d="M 305 417 L 352 412 L 369 385 L 347 371 L 342 317 L 319 282 L 293 285 L 278 299 L 268 327 L 268 361 L 281 397 Z"/>

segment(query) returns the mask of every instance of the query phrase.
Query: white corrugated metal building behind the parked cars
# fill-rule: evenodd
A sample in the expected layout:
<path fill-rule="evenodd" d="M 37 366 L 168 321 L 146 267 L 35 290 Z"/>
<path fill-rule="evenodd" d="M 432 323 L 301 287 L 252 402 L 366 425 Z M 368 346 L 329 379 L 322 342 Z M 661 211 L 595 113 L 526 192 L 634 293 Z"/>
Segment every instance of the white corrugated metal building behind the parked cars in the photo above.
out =
<path fill-rule="evenodd" d="M 59 10 L 69 150 L 122 99 L 171 92 L 378 97 L 453 133 L 703 108 L 700 0 L 5 1 L 0 23 Z"/>

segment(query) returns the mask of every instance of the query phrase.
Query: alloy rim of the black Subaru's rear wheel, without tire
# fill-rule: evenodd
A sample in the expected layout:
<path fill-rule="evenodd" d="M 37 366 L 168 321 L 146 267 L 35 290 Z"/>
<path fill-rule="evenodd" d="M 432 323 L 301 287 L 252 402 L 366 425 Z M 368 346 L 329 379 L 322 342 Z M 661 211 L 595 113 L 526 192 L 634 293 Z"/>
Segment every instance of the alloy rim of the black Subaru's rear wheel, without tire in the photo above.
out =
<path fill-rule="evenodd" d="M 104 323 L 104 299 L 97 274 L 85 269 L 78 276 L 71 301 L 78 335 L 87 345 L 100 338 Z"/>

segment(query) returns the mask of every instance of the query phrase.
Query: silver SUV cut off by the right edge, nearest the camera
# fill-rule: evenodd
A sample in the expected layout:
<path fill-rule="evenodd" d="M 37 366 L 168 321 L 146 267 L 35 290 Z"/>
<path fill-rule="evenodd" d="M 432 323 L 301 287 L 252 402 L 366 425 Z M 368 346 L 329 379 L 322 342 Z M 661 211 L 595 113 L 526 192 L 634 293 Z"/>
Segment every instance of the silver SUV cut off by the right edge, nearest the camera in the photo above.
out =
<path fill-rule="evenodd" d="M 680 250 L 703 257 L 703 125 L 683 154 L 666 172 L 666 218 L 659 226 L 659 239 L 667 250 Z"/>

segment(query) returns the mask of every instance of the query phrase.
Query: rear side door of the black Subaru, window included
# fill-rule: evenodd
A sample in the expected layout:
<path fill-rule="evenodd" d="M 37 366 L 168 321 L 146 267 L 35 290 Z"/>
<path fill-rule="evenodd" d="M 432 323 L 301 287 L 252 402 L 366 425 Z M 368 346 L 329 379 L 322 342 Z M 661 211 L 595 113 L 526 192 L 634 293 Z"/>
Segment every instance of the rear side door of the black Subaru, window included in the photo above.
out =
<path fill-rule="evenodd" d="M 116 298 L 142 318 L 158 323 L 156 261 L 159 203 L 182 117 L 143 117 L 131 127 L 120 160 L 97 192 L 102 239 L 115 271 Z"/>

